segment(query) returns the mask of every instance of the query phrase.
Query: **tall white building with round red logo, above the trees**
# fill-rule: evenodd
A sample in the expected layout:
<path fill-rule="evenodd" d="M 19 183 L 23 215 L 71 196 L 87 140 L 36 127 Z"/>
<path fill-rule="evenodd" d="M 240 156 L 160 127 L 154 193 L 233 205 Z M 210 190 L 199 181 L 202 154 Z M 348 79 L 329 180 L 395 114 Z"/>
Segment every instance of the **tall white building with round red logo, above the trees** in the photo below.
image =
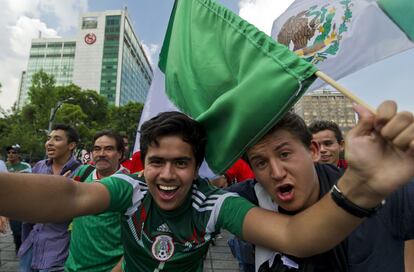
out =
<path fill-rule="evenodd" d="M 19 107 L 28 102 L 31 77 L 40 70 L 54 75 L 57 85 L 95 90 L 116 106 L 144 103 L 153 77 L 126 10 L 82 14 L 74 39 L 32 40 Z"/>

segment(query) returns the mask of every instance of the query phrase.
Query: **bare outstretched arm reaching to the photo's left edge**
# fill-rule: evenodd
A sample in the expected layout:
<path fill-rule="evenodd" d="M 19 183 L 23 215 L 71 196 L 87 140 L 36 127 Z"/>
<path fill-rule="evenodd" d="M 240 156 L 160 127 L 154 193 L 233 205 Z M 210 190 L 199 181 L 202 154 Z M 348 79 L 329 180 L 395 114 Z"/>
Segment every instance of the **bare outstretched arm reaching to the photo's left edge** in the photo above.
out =
<path fill-rule="evenodd" d="M 80 183 L 55 175 L 0 173 L 0 215 L 28 222 L 60 222 L 108 207 L 100 183 Z"/>

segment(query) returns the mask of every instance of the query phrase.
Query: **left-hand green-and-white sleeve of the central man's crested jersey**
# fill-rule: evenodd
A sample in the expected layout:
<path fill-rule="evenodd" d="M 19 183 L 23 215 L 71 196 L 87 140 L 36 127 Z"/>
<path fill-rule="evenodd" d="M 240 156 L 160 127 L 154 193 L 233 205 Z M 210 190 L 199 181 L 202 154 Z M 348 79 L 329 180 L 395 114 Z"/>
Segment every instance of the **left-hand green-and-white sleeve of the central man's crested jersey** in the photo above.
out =
<path fill-rule="evenodd" d="M 106 211 L 132 215 L 144 197 L 137 175 L 115 174 L 99 181 L 109 191 L 111 201 Z"/>

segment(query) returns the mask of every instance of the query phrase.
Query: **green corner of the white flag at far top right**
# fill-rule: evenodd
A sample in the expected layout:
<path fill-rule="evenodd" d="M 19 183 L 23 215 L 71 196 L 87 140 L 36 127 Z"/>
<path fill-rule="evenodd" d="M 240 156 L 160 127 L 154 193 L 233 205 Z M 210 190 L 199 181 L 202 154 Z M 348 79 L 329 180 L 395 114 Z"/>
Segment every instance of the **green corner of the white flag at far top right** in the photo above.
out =
<path fill-rule="evenodd" d="M 414 41 L 414 1 L 378 0 L 378 5 Z"/>

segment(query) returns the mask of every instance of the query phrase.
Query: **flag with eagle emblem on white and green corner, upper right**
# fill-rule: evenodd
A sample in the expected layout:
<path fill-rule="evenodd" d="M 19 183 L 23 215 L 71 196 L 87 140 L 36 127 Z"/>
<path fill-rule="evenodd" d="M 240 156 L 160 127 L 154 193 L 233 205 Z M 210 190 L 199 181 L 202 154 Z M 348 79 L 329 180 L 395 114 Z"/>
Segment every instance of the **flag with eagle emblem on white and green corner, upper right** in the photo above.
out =
<path fill-rule="evenodd" d="M 414 1 L 296 0 L 273 22 L 271 36 L 340 79 L 414 47 Z"/>

